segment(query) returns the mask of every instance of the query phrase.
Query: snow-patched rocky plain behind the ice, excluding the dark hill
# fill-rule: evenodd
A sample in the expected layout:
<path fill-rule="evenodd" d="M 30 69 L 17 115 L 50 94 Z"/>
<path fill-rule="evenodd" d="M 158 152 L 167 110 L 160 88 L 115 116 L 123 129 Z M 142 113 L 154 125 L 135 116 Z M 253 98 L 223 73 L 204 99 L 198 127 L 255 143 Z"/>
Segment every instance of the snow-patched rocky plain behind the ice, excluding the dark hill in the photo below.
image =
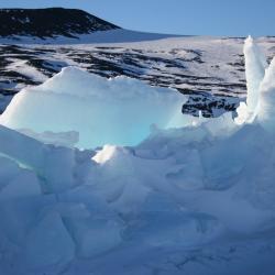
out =
<path fill-rule="evenodd" d="M 101 36 L 97 38 L 98 34 Z M 103 36 L 109 37 L 108 43 Z M 116 30 L 92 33 L 90 40 L 91 44 L 81 44 L 81 40 L 0 44 L 0 94 L 3 95 L 0 113 L 23 87 L 37 86 L 67 66 L 107 78 L 129 76 L 153 86 L 177 89 L 189 96 L 183 107 L 187 114 L 198 116 L 201 110 L 205 117 L 219 117 L 245 100 L 242 37 L 157 36 Z M 275 55 L 274 37 L 258 37 L 256 42 L 270 63 Z"/>

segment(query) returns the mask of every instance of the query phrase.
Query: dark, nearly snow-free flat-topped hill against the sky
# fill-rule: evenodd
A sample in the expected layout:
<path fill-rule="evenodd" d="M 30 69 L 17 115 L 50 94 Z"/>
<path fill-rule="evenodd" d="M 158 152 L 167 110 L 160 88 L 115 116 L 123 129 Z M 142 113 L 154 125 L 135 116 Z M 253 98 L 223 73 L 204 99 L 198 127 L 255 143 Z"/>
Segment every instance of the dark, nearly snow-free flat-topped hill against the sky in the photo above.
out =
<path fill-rule="evenodd" d="M 120 29 L 81 10 L 0 9 L 0 36 L 75 37 L 96 31 Z"/>

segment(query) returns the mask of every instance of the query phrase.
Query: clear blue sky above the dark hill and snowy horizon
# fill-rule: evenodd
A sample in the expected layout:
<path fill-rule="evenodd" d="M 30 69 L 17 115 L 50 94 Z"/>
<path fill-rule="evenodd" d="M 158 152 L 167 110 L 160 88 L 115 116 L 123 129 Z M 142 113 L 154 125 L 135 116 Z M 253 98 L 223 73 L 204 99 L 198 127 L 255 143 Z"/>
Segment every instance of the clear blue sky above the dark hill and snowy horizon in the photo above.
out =
<path fill-rule="evenodd" d="M 173 34 L 275 35 L 275 0 L 1 0 L 0 8 L 84 9 L 122 28 Z"/>

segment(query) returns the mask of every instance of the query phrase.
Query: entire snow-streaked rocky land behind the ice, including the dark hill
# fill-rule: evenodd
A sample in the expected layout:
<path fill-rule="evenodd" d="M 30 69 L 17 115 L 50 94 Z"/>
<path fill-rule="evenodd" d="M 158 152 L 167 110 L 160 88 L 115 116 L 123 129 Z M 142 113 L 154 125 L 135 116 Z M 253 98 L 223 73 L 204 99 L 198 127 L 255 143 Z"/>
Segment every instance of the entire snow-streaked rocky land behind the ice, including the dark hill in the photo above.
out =
<path fill-rule="evenodd" d="M 275 38 L 257 42 L 271 58 Z M 183 112 L 193 116 L 218 117 L 245 99 L 243 38 L 133 32 L 53 8 L 0 10 L 0 112 L 21 88 L 69 65 L 176 88 L 189 96 Z"/>

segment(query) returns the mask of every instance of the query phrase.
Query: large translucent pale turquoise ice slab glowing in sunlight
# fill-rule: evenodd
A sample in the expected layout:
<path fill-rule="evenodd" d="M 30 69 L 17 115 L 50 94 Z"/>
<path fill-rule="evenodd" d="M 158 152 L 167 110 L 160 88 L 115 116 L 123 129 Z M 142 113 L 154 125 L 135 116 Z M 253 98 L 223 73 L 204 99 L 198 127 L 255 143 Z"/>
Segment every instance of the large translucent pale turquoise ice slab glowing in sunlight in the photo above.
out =
<path fill-rule="evenodd" d="M 187 123 L 182 114 L 185 101 L 170 88 L 66 67 L 15 95 L 0 123 L 46 143 L 68 141 L 81 148 L 136 145 L 148 136 L 152 124 L 166 129 Z"/>

